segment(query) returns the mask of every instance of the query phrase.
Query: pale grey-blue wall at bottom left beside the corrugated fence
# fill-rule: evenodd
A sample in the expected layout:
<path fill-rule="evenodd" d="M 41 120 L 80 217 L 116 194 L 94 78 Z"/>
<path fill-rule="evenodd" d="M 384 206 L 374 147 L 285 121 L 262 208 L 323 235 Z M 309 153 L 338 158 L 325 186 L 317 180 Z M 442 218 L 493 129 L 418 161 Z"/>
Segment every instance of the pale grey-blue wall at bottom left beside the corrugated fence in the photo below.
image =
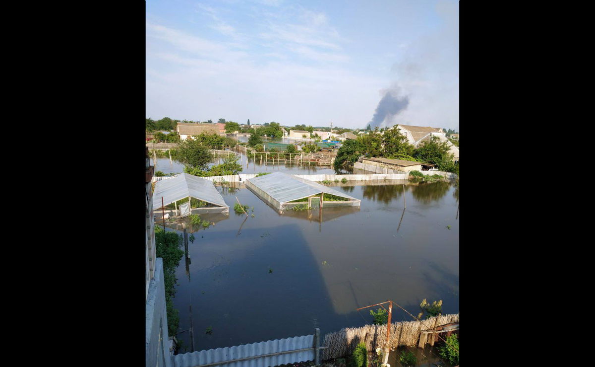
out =
<path fill-rule="evenodd" d="M 145 306 L 145 366 L 173 367 L 167 334 L 163 259 L 155 261 L 155 276 L 149 284 Z"/>

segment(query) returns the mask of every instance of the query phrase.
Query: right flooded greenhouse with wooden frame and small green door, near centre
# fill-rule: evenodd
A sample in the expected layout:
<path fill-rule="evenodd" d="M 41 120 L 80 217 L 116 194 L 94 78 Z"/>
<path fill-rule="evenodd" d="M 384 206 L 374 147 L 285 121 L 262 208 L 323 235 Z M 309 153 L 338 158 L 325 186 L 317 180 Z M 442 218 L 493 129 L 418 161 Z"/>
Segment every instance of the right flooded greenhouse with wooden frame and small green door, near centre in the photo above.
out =
<path fill-rule="evenodd" d="M 307 208 L 359 207 L 361 204 L 361 200 L 351 197 L 345 192 L 283 172 L 247 179 L 246 187 L 277 210 L 293 209 L 296 206 L 307 206 Z"/>

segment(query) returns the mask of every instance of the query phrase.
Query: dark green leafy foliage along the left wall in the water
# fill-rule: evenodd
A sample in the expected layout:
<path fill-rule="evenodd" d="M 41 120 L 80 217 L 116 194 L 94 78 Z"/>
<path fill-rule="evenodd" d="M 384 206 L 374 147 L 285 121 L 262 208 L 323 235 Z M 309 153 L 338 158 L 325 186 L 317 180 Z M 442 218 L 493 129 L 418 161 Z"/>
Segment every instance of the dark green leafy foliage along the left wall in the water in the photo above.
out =
<path fill-rule="evenodd" d="M 176 335 L 180 318 L 178 310 L 174 309 L 172 298 L 176 295 L 176 268 L 184 256 L 181 250 L 183 241 L 175 232 L 166 232 L 155 226 L 156 257 L 163 259 L 163 278 L 165 288 L 165 307 L 167 309 L 167 331 L 169 335 Z"/>

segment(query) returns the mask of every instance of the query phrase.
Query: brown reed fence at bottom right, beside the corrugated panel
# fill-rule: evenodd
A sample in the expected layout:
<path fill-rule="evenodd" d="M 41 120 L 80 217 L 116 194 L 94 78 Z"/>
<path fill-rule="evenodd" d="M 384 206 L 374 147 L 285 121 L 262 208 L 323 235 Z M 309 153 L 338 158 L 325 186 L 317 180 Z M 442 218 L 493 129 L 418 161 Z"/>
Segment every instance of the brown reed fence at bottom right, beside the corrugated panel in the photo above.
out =
<path fill-rule="evenodd" d="M 443 315 L 436 320 L 436 316 L 422 321 L 402 321 L 390 326 L 390 348 L 399 346 L 417 346 L 419 334 L 432 329 L 434 326 L 451 324 L 459 321 L 459 314 Z M 322 346 L 328 349 L 322 351 L 321 359 L 340 358 L 353 353 L 359 343 L 366 343 L 368 350 L 384 348 L 386 344 L 387 325 L 365 325 L 361 328 L 343 328 L 329 332 L 324 336 Z"/>

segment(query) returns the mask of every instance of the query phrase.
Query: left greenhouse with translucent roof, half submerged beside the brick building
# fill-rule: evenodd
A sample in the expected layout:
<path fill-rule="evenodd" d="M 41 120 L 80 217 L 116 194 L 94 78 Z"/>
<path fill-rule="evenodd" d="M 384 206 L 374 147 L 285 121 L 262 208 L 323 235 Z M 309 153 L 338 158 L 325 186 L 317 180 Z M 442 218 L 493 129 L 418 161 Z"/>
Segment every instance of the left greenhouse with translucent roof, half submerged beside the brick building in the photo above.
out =
<path fill-rule="evenodd" d="M 155 216 L 159 216 L 163 212 L 161 198 L 163 198 L 165 206 L 164 211 L 170 215 L 229 213 L 229 206 L 212 181 L 188 173 L 180 173 L 155 183 L 153 192 Z M 188 201 L 190 201 L 190 210 L 186 211 Z M 183 206 L 180 207 L 180 205 Z"/>

